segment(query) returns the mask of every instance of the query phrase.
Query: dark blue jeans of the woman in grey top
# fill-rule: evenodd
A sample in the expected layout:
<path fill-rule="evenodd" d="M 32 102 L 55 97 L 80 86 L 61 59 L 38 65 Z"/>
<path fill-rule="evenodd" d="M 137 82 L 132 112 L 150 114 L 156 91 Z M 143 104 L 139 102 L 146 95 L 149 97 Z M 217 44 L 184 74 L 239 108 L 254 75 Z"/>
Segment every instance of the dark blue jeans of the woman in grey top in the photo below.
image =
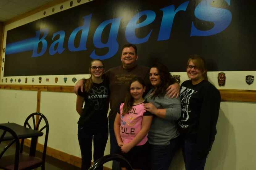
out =
<path fill-rule="evenodd" d="M 168 170 L 171 160 L 178 148 L 178 138 L 170 140 L 168 145 L 150 144 L 151 170 Z"/>

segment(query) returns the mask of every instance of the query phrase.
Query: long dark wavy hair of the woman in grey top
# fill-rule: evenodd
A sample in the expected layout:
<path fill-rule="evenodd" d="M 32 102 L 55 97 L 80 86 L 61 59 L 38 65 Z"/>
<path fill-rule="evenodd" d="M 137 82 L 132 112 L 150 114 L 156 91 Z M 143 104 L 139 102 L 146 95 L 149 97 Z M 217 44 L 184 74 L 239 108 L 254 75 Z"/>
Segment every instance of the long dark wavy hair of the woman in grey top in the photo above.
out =
<path fill-rule="evenodd" d="M 151 68 L 156 68 L 160 76 L 160 84 L 157 85 L 155 93 L 152 95 L 152 98 L 155 97 L 164 97 L 167 87 L 176 82 L 172 77 L 171 73 L 168 71 L 168 68 L 162 63 L 155 63 Z"/>

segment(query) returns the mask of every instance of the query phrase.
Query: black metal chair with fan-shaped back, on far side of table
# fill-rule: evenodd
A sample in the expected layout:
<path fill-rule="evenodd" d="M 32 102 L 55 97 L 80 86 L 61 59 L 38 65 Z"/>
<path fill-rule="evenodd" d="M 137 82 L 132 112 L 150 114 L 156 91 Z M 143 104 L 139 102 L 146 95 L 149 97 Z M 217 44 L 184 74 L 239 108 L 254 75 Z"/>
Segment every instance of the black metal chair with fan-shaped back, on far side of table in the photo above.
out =
<path fill-rule="evenodd" d="M 37 116 L 37 115 L 39 115 L 39 121 L 36 124 L 35 116 Z M 29 124 L 29 121 L 31 119 L 33 121 L 33 128 Z M 17 148 L 16 148 L 15 155 L 2 157 L 3 160 L 6 160 L 6 161 L 8 160 L 9 162 L 10 162 L 10 160 L 12 160 L 13 164 L 10 164 L 10 165 L 5 166 L 5 167 L 1 166 L 0 168 L 6 169 L 6 170 L 29 170 L 29 169 L 35 169 L 35 168 L 41 167 L 42 170 L 45 169 L 46 148 L 47 148 L 47 140 L 48 140 L 48 134 L 49 134 L 49 124 L 48 124 L 47 119 L 42 113 L 38 113 L 38 112 L 37 113 L 32 113 L 25 120 L 24 127 L 31 128 L 31 129 L 34 129 L 34 130 L 38 131 L 39 125 L 42 122 L 42 120 L 44 120 L 45 125 L 42 128 L 40 128 L 39 131 L 42 132 L 44 129 L 46 129 L 45 132 L 44 132 L 45 139 L 44 139 L 42 158 L 35 157 L 36 144 L 37 144 L 38 137 L 32 137 L 31 138 L 31 145 L 30 145 L 29 155 L 23 154 L 24 139 L 22 139 L 21 140 L 21 145 L 20 145 L 20 154 L 18 154 L 19 155 L 18 156 L 18 165 L 16 165 L 16 163 L 17 163 L 17 161 L 16 161 Z M 18 152 L 19 152 L 19 149 L 18 149 Z M 15 159 L 14 159 L 14 157 L 15 157 Z M 13 160 L 15 160 L 15 161 L 13 161 Z M 18 167 L 18 168 L 15 169 L 15 167 Z"/>

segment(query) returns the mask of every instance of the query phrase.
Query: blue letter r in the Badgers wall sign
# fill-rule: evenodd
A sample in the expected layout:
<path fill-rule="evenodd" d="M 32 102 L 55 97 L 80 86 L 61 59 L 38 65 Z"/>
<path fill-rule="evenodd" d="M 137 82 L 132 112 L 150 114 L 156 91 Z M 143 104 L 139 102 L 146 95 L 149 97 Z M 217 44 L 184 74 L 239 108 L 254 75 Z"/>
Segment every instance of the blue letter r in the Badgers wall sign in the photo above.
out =
<path fill-rule="evenodd" d="M 174 5 L 170 5 L 161 9 L 163 11 L 163 18 L 158 35 L 158 41 L 168 40 L 170 38 L 173 19 L 176 13 L 179 11 L 186 11 L 188 3 L 189 1 L 184 2 L 176 10 Z"/>

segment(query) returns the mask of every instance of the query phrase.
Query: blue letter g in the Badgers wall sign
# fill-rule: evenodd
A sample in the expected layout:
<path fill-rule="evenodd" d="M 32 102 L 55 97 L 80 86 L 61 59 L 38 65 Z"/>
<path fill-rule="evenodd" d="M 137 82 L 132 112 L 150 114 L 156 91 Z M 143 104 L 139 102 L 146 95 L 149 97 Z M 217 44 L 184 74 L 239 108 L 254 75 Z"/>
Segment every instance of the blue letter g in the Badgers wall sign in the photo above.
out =
<path fill-rule="evenodd" d="M 108 53 L 106 53 L 103 56 L 98 56 L 95 53 L 95 50 L 93 50 L 93 52 L 90 55 L 91 58 L 93 58 L 93 59 L 100 58 L 100 59 L 104 60 L 104 59 L 108 59 L 108 58 L 114 56 L 117 53 L 118 46 L 119 46 L 118 42 L 117 42 L 117 34 L 118 34 L 120 21 L 121 21 L 121 18 L 109 19 L 109 20 L 102 22 L 98 26 L 98 28 L 96 29 L 94 36 L 93 36 L 93 44 L 97 48 L 108 47 L 109 51 L 108 51 Z M 109 24 L 111 24 L 111 28 L 110 28 L 110 32 L 109 32 L 109 39 L 106 44 L 103 44 L 101 42 L 101 34 L 102 34 L 102 31 L 104 30 L 104 28 Z"/>

